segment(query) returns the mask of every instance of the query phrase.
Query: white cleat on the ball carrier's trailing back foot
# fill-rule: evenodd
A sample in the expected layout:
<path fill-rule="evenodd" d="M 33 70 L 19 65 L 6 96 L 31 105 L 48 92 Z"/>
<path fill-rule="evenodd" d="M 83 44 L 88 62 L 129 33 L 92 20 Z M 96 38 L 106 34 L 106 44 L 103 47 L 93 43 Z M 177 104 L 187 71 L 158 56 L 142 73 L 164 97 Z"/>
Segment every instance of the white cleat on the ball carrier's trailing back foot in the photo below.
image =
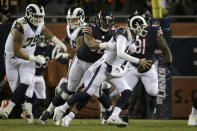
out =
<path fill-rule="evenodd" d="M 54 110 L 54 115 L 53 115 L 53 122 L 55 125 L 60 125 L 60 120 L 62 119 L 64 115 L 64 112 L 61 110 L 60 107 L 56 107 Z"/>

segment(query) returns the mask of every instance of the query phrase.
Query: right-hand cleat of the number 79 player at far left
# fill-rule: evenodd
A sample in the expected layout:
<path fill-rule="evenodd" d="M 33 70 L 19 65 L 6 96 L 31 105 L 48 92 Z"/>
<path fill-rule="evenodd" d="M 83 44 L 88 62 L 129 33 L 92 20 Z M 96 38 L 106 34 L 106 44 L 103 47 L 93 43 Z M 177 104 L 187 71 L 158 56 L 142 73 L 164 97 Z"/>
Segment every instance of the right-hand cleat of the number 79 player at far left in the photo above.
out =
<path fill-rule="evenodd" d="M 31 103 L 24 103 L 24 104 L 22 104 L 22 109 L 26 114 L 27 124 L 32 124 L 34 121 L 34 116 L 32 114 L 32 104 Z"/>

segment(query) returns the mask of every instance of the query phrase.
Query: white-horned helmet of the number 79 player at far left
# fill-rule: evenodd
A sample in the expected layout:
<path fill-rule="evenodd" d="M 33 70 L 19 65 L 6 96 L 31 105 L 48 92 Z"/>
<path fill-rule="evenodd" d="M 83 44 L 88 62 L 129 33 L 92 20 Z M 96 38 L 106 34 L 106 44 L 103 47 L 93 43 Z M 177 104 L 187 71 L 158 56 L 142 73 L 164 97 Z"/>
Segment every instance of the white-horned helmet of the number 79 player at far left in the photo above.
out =
<path fill-rule="evenodd" d="M 36 4 L 29 4 L 26 7 L 25 18 L 29 20 L 33 25 L 38 26 L 44 21 L 44 8 Z"/>

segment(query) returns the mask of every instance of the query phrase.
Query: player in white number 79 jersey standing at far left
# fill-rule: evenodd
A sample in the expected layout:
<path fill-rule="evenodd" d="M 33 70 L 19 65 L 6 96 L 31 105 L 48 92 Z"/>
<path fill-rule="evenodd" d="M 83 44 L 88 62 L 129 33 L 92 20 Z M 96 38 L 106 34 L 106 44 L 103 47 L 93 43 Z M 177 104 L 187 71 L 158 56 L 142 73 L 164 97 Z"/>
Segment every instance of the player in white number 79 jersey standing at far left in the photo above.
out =
<path fill-rule="evenodd" d="M 32 105 L 25 102 L 25 93 L 35 74 L 35 63 L 45 64 L 43 56 L 34 56 L 36 43 L 40 34 L 55 43 L 59 48 L 66 46 L 44 25 L 44 8 L 41 5 L 29 4 L 25 16 L 14 21 L 5 45 L 6 75 L 12 90 L 8 106 L 0 111 L 0 116 L 7 119 L 13 107 L 21 104 L 27 114 L 27 123 L 33 122 Z"/>

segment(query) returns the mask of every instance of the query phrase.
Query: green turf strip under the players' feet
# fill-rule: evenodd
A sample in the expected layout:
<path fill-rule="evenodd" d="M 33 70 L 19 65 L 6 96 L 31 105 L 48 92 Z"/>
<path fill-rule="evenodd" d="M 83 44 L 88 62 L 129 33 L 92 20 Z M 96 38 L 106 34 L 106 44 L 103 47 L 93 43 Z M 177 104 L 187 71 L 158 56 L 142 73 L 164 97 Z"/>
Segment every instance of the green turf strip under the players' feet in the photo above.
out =
<path fill-rule="evenodd" d="M 23 119 L 0 119 L 0 131 L 197 131 L 197 127 L 187 126 L 186 120 L 130 120 L 128 127 L 119 128 L 102 126 L 99 119 L 75 119 L 69 127 L 55 126 L 52 120 L 27 125 Z"/>

